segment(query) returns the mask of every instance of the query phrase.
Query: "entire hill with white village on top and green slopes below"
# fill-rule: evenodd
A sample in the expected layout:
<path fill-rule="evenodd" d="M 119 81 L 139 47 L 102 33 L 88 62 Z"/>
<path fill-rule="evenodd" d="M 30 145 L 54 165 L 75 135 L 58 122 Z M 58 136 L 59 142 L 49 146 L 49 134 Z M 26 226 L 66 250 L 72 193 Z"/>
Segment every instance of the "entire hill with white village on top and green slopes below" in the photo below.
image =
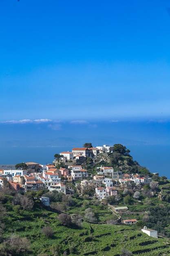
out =
<path fill-rule="evenodd" d="M 169 190 L 121 144 L 0 169 L 0 255 L 170 255 Z"/>

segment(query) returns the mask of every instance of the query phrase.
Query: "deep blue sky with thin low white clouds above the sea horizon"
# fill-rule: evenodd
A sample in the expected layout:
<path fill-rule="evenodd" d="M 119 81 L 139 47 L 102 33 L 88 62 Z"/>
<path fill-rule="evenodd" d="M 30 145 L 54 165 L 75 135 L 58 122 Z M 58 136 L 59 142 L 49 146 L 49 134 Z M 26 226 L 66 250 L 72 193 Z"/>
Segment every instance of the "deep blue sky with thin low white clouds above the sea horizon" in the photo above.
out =
<path fill-rule="evenodd" d="M 0 141 L 49 131 L 99 138 L 107 124 L 109 137 L 165 142 L 168 8 L 170 0 L 1 0 Z"/>

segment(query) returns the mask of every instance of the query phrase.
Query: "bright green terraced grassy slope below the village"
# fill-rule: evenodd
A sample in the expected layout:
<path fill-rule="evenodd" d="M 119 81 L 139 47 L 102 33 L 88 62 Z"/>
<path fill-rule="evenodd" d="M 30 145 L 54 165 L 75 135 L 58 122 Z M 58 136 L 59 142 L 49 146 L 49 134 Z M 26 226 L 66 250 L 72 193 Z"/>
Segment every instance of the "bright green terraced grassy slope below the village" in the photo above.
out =
<path fill-rule="evenodd" d="M 6 222 L 5 236 L 17 233 L 31 242 L 32 255 L 42 252 L 53 255 L 50 247 L 53 244 L 62 245 L 63 252 L 72 248 L 68 255 L 118 256 L 121 248 L 126 248 L 133 255 L 170 255 L 168 239 L 151 238 L 134 227 L 125 225 L 105 225 L 83 222 L 82 228 L 64 227 L 57 220 L 57 213 L 49 209 L 37 207 L 33 211 L 24 211 L 22 216 L 16 216 L 12 206 L 8 205 L 9 216 Z M 54 230 L 53 238 L 42 234 L 44 226 Z M 152 254 L 150 253 L 152 250 Z M 89 253 L 89 254 L 88 254 Z"/>

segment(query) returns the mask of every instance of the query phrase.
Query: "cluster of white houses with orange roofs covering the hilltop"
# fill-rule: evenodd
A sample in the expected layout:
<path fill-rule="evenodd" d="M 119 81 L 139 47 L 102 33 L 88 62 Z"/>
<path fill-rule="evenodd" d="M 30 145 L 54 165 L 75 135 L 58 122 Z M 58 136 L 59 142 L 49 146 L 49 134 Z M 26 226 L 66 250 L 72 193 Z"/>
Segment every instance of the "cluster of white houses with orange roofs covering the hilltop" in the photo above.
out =
<path fill-rule="evenodd" d="M 116 168 L 112 167 L 113 164 L 104 166 L 102 163 L 106 161 L 103 159 L 108 155 L 112 157 L 113 152 L 119 154 L 119 158 L 130 157 L 129 150 L 127 151 L 121 144 L 116 144 L 115 151 L 113 150 L 114 146 L 108 145 L 96 148 L 73 148 L 72 152 L 55 154 L 52 164 L 35 162 L 16 164 L 16 170 L 0 170 L 0 184 L 3 185 L 5 177 L 17 192 L 48 189 L 66 195 L 72 195 L 75 191 L 82 195 L 93 189 L 96 198 L 102 200 L 111 195 L 117 196 L 119 189 L 140 191 L 143 186 L 152 182 L 152 174 L 149 171 L 148 173 L 146 171 L 146 174 L 130 173 L 128 164 L 124 167 L 121 161 Z M 96 167 L 91 171 L 89 166 Z"/>

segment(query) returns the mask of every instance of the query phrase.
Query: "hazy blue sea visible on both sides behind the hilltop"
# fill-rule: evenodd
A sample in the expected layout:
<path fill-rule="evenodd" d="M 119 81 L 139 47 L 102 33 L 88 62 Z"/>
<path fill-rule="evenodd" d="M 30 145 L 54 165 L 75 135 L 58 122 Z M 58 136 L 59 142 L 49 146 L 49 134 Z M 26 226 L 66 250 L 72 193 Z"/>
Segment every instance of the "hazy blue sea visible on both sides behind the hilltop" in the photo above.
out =
<path fill-rule="evenodd" d="M 73 147 L 3 147 L 0 148 L 0 165 L 22 162 L 50 164 L 54 155 L 71 152 Z M 151 173 L 159 173 L 170 179 L 170 145 L 126 145 L 133 160 L 145 166 Z"/>

